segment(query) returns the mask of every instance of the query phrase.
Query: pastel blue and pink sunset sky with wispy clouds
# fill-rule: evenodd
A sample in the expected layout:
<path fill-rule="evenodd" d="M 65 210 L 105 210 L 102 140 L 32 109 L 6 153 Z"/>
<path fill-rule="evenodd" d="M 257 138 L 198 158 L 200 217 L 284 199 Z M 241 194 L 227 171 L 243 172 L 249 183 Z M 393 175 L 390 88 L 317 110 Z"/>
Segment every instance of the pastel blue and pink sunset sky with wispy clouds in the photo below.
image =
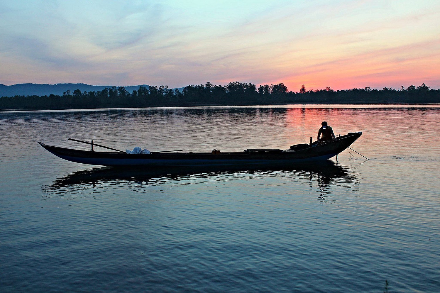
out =
<path fill-rule="evenodd" d="M 0 83 L 440 88 L 440 1 L 0 0 Z"/>

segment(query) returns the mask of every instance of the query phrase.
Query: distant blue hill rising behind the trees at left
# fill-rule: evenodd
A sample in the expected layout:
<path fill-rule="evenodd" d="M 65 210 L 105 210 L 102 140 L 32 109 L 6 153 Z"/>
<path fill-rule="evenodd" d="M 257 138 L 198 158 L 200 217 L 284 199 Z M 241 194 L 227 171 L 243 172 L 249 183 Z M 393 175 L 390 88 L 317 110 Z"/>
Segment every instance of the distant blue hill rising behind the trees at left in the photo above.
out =
<path fill-rule="evenodd" d="M 148 88 L 147 84 L 142 84 L 143 87 Z M 63 92 L 70 90 L 73 92 L 80 89 L 81 92 L 97 92 L 104 88 L 111 88 L 111 85 L 90 85 L 90 84 L 0 84 L 0 97 L 12 97 L 15 95 L 62 95 Z M 127 86 L 125 89 L 128 92 L 138 90 L 140 85 Z"/>

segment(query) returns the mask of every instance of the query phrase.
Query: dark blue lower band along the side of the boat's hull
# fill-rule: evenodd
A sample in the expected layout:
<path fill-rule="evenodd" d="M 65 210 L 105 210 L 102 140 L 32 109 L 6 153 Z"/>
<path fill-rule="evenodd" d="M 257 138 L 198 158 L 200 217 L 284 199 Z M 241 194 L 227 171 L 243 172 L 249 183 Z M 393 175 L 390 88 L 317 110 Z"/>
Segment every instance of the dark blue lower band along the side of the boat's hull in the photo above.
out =
<path fill-rule="evenodd" d="M 57 155 L 57 154 L 55 154 Z M 326 154 L 319 157 L 306 159 L 285 159 L 285 160 L 156 160 L 156 159 L 100 159 L 100 158 L 81 158 L 57 155 L 58 157 L 72 162 L 88 165 L 102 166 L 128 166 L 128 165 L 148 165 L 148 166 L 225 166 L 225 165 L 266 165 L 266 164 L 285 164 L 290 162 L 303 161 L 323 161 L 328 160 L 337 154 Z"/>

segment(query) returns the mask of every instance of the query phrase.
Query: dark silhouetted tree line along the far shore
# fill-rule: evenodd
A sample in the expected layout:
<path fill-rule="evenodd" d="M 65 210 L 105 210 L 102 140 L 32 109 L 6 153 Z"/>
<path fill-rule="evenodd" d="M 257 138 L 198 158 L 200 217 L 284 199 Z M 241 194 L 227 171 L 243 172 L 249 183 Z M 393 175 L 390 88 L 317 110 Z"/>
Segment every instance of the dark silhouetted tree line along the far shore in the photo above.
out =
<path fill-rule="evenodd" d="M 140 86 L 128 92 L 124 87 L 105 88 L 98 92 L 66 91 L 63 95 L 15 95 L 0 98 L 0 109 L 6 110 L 56 110 L 126 108 L 156 106 L 238 106 L 283 105 L 308 103 L 440 103 L 440 89 L 422 84 L 408 88 L 383 88 L 381 90 L 353 88 L 333 90 L 330 87 L 289 92 L 283 83 L 260 85 L 230 82 L 227 85 L 188 85 L 182 92 L 168 86 Z"/>

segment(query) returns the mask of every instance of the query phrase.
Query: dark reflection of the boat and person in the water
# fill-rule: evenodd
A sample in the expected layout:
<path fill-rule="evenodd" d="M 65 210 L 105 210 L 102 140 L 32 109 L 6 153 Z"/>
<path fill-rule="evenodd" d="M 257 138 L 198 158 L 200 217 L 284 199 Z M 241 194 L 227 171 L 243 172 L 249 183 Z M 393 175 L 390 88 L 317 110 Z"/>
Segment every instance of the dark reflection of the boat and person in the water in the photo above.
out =
<path fill-rule="evenodd" d="M 187 184 L 188 181 L 209 178 L 210 180 L 242 179 L 241 175 L 252 174 L 260 177 L 283 177 L 296 178 L 311 186 L 316 186 L 319 192 L 319 199 L 326 201 L 331 193 L 328 190 L 330 185 L 348 185 L 352 187 L 357 183 L 348 167 L 335 164 L 333 161 L 323 161 L 314 164 L 277 165 L 268 168 L 265 166 L 252 166 L 236 168 L 231 167 L 168 167 L 168 168 L 123 168 L 123 167 L 101 167 L 84 171 L 73 172 L 56 180 L 46 188 L 50 194 L 66 195 L 75 191 L 84 190 L 90 187 L 123 186 L 130 189 L 128 183 L 135 183 L 139 186 L 153 186 L 165 183 L 174 185 Z M 281 179 L 283 180 L 283 179 Z M 134 188 L 134 187 L 133 187 Z M 47 196 L 50 197 L 50 196 Z"/>

